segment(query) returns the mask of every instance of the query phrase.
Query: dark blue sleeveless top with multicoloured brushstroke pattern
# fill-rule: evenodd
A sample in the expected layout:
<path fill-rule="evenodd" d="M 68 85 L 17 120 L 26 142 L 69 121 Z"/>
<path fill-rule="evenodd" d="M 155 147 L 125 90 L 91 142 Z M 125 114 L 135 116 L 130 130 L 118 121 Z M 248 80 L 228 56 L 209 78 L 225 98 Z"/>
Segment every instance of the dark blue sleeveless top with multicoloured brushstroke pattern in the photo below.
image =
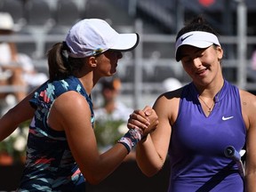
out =
<path fill-rule="evenodd" d="M 29 125 L 27 160 L 17 191 L 85 191 L 84 176 L 68 148 L 65 132 L 47 124 L 52 103 L 69 91 L 79 92 L 87 100 L 93 126 L 92 100 L 76 77 L 41 85 L 30 100 L 36 112 Z"/>

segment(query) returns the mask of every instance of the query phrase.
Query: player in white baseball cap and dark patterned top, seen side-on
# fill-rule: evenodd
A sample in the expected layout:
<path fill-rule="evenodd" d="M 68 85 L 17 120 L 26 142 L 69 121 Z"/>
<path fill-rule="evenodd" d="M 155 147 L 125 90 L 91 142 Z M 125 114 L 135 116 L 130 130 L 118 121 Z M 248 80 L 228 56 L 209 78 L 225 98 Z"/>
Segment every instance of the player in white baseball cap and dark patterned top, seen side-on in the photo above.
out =
<path fill-rule="evenodd" d="M 145 108 L 143 124 L 131 118 L 132 129 L 103 154 L 92 129 L 92 88 L 102 76 L 113 76 L 122 52 L 138 43 L 135 33 L 118 34 L 104 20 L 85 19 L 69 30 L 65 42 L 52 46 L 49 80 L 0 119 L 4 140 L 32 118 L 17 191 L 85 191 L 85 180 L 91 184 L 104 180 L 146 134 L 144 130 L 156 128 L 156 113 Z"/>

